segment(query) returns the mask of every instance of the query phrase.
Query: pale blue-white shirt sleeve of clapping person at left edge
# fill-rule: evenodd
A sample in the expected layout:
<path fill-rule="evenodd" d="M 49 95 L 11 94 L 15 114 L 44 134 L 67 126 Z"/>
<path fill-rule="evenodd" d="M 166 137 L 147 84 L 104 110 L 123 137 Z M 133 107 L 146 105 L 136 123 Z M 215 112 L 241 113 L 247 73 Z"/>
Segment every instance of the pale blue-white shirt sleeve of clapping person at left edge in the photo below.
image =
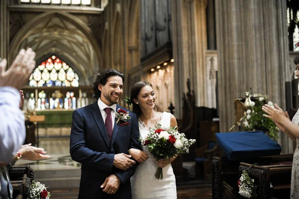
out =
<path fill-rule="evenodd" d="M 24 143 L 25 118 L 19 109 L 20 93 L 12 87 L 0 87 L 0 162 L 9 163 Z"/>

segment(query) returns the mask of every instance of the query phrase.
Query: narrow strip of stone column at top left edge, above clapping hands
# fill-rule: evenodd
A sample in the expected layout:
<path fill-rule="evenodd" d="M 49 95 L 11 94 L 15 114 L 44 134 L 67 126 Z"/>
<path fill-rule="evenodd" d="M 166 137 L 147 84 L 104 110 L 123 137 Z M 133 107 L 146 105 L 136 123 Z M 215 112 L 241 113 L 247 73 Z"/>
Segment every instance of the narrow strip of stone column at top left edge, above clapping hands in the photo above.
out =
<path fill-rule="evenodd" d="M 8 0 L 0 1 L 0 58 L 7 59 L 8 51 Z"/>

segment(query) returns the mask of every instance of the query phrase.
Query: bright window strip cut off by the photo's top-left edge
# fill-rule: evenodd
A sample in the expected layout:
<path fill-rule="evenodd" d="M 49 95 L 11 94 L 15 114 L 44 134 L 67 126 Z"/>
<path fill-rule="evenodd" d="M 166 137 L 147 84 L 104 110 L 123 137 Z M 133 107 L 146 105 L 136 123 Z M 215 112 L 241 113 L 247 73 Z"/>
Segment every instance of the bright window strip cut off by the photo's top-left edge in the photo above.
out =
<path fill-rule="evenodd" d="M 20 0 L 21 3 L 62 4 L 62 5 L 90 5 L 91 0 Z"/>

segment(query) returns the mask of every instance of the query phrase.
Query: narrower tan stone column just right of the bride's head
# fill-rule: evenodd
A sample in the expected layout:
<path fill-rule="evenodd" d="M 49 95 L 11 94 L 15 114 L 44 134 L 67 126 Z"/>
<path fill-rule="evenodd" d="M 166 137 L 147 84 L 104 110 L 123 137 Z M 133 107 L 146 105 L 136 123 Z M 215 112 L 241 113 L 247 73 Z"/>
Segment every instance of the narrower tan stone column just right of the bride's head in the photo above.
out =
<path fill-rule="evenodd" d="M 196 105 L 206 106 L 206 8 L 207 0 L 172 1 L 172 48 L 174 58 L 175 115 L 180 118 L 182 94 L 187 91 L 186 82 L 196 96 Z"/>

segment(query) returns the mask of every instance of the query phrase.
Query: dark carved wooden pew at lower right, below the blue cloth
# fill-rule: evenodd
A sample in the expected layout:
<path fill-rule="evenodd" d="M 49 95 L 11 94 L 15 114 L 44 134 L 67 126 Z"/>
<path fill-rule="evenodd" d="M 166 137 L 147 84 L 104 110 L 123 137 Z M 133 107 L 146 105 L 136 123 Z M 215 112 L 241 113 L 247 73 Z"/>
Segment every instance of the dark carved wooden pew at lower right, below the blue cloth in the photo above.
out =
<path fill-rule="evenodd" d="M 234 199 L 238 197 L 239 188 L 237 185 L 238 180 L 241 177 L 239 173 L 239 167 L 241 162 L 242 164 L 255 164 L 258 163 L 260 165 L 268 165 L 265 168 L 271 168 L 273 171 L 273 183 L 277 187 L 276 190 L 286 188 L 285 185 L 280 187 L 277 182 L 278 178 L 275 176 L 279 175 L 279 172 L 282 172 L 279 164 L 288 163 L 284 167 L 288 167 L 286 170 L 290 170 L 290 164 L 293 161 L 293 154 L 282 154 L 278 156 L 267 156 L 253 159 L 245 159 L 245 160 L 237 160 L 230 161 L 226 157 L 219 158 L 214 157 L 212 161 L 212 193 L 213 199 Z M 279 168 L 279 169 L 277 169 Z M 292 170 L 292 166 L 291 166 Z M 277 171 L 277 172 L 274 172 Z M 286 182 L 286 181 L 285 181 Z M 290 179 L 291 182 L 291 179 Z M 284 184 L 284 183 L 283 183 Z M 275 190 L 274 189 L 274 190 Z"/>

